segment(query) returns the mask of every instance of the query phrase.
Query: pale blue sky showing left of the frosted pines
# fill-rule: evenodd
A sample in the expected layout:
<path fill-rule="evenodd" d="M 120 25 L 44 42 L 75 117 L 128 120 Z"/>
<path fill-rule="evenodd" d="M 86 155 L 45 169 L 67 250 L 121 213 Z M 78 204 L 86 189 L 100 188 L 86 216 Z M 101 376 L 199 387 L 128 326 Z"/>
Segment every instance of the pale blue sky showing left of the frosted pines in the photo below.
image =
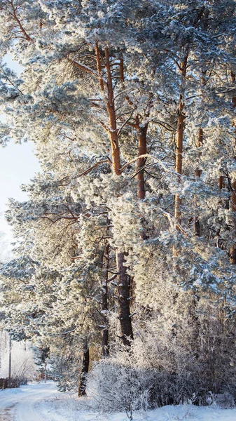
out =
<path fill-rule="evenodd" d="M 11 59 L 5 57 L 11 69 L 20 73 L 22 67 Z M 39 171 L 39 163 L 34 156 L 34 145 L 32 142 L 8 143 L 6 147 L 0 147 L 0 232 L 5 232 L 12 239 L 11 229 L 4 218 L 6 203 L 9 197 L 24 201 L 27 195 L 20 189 L 22 184 L 27 184 L 34 174 Z"/>

